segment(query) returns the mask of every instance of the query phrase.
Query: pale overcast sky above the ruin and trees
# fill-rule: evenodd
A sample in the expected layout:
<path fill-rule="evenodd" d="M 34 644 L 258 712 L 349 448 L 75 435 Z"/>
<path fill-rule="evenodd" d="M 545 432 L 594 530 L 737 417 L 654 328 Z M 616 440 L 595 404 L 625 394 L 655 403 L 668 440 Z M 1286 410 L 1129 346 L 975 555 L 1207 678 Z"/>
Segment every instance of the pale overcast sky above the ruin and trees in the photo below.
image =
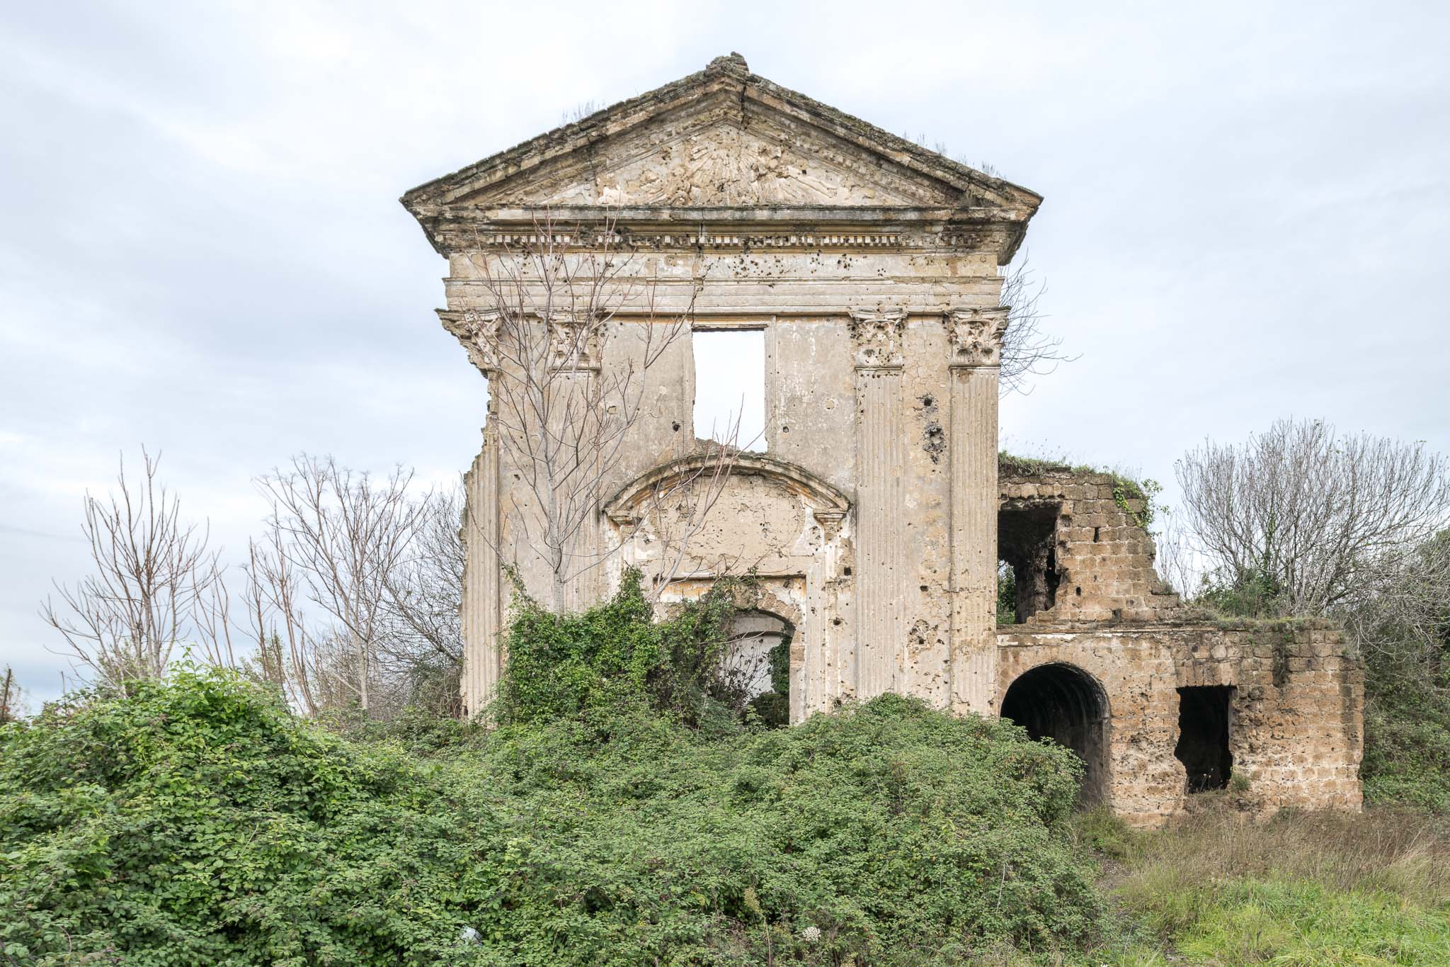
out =
<path fill-rule="evenodd" d="M 1031 6 L 1031 10 L 1024 7 Z M 406 188 L 740 51 L 1043 196 L 1080 360 L 1005 444 L 1172 480 L 1277 416 L 1450 451 L 1450 4 L 10 3 L 0 664 L 146 444 L 229 552 L 299 451 L 461 471 L 484 384 Z"/>

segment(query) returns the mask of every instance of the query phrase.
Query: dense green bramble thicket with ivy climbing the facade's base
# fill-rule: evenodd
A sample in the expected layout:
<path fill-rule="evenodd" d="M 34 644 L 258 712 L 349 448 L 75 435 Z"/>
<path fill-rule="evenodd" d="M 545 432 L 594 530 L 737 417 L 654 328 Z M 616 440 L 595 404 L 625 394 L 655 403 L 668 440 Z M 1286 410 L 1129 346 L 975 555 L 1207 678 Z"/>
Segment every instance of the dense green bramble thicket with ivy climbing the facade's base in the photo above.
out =
<path fill-rule="evenodd" d="M 521 607 L 492 732 L 344 739 L 187 670 L 3 726 L 0 950 L 928 964 L 1095 934 L 1069 752 L 892 696 L 742 722 L 702 664 L 726 613 L 651 625 L 631 587 L 571 618 Z"/>

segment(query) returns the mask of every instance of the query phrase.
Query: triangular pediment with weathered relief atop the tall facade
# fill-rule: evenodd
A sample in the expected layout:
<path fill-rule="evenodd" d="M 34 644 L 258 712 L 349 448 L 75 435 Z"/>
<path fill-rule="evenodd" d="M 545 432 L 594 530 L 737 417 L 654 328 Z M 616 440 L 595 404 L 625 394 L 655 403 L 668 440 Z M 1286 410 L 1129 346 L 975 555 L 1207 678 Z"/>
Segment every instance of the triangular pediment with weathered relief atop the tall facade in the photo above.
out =
<path fill-rule="evenodd" d="M 1002 207 L 1041 199 L 750 74 L 740 55 L 403 196 L 439 206 Z"/>

